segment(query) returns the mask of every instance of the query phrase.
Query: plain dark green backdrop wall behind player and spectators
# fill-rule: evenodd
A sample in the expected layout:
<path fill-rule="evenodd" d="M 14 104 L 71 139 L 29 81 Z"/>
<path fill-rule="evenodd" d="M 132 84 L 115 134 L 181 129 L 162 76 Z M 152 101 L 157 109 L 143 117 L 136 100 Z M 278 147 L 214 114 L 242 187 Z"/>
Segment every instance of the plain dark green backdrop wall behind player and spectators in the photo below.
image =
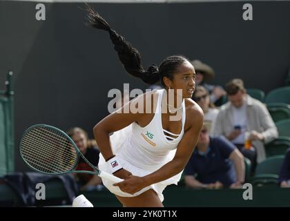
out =
<path fill-rule="evenodd" d="M 93 5 L 138 48 L 145 67 L 182 54 L 211 64 L 213 83 L 241 77 L 247 88 L 268 92 L 284 84 L 290 64 L 290 2 L 252 2 L 253 21 L 242 19 L 244 3 Z M 84 26 L 83 4 L 45 3 L 46 21 L 35 19 L 36 4 L 0 1 L 0 89 L 12 70 L 15 143 L 36 123 L 81 126 L 91 135 L 108 113 L 108 90 L 146 85 L 124 72 L 108 33 Z M 18 155 L 16 162 L 23 170 Z"/>

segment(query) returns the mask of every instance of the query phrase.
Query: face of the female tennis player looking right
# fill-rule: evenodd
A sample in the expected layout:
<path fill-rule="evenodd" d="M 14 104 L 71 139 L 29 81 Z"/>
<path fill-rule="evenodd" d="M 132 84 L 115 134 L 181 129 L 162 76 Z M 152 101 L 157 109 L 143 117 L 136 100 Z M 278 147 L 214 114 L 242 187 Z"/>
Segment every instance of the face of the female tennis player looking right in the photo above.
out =
<path fill-rule="evenodd" d="M 195 90 L 195 70 L 189 61 L 177 68 L 177 73 L 171 81 L 171 88 L 182 90 L 182 98 L 191 98 Z"/>

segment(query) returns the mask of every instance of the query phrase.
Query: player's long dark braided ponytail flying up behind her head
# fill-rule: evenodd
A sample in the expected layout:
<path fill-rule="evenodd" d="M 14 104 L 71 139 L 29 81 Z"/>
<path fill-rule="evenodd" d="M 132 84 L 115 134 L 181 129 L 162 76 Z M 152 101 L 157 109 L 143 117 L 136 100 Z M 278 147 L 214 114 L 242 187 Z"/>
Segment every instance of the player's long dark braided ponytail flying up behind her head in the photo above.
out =
<path fill-rule="evenodd" d="M 86 4 L 86 7 L 88 12 L 87 25 L 109 32 L 110 39 L 113 42 L 115 46 L 114 48 L 117 51 L 119 59 L 124 65 L 126 71 L 134 77 L 141 78 L 145 83 L 155 84 L 161 79 L 162 85 L 165 86 L 163 77 L 168 77 L 172 80 L 173 73 L 177 70 L 177 67 L 184 61 L 188 61 L 188 59 L 182 55 L 174 55 L 164 59 L 164 61 L 160 64 L 160 68 L 153 64 L 148 68 L 148 70 L 144 70 L 141 65 L 141 56 L 139 51 L 136 48 L 133 48 L 133 46 L 126 41 L 124 37 L 110 28 L 108 22 L 106 22 L 105 19 L 95 12 L 91 6 Z"/>

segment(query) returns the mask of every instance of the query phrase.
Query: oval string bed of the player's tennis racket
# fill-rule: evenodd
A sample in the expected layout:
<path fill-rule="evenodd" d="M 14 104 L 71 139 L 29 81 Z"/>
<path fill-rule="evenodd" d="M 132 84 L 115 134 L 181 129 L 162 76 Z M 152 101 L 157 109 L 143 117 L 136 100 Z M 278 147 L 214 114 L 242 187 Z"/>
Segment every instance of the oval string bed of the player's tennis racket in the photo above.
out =
<path fill-rule="evenodd" d="M 44 128 L 32 128 L 22 140 L 24 159 L 33 168 L 48 173 L 64 173 L 75 165 L 77 152 L 66 136 Z"/>

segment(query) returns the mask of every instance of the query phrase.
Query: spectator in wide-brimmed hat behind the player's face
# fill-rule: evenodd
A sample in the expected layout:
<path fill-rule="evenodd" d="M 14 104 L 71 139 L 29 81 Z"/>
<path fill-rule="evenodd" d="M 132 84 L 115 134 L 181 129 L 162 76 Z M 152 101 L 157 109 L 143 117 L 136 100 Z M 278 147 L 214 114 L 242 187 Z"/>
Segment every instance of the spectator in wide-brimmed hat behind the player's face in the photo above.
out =
<path fill-rule="evenodd" d="M 210 99 L 213 104 L 226 95 L 226 91 L 222 86 L 207 84 L 208 81 L 215 77 L 215 72 L 211 66 L 208 66 L 199 60 L 194 60 L 191 64 L 193 64 L 193 67 L 195 68 L 195 84 L 197 86 L 204 86 L 204 88 L 209 91 Z"/>

